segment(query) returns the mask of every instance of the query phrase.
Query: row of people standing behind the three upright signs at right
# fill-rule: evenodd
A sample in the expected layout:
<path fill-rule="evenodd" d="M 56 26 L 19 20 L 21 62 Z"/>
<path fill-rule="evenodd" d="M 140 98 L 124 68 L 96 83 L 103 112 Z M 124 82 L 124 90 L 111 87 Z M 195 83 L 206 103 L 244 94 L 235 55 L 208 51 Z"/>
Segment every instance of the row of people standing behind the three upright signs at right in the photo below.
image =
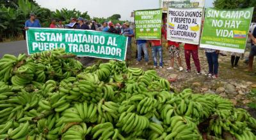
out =
<path fill-rule="evenodd" d="M 166 27 L 162 28 L 162 38 L 166 39 Z M 249 55 L 249 64 L 248 64 L 248 71 L 252 71 L 253 67 L 253 60 L 256 55 L 256 25 L 252 27 L 252 32 L 249 34 L 249 38 L 252 41 L 252 46 Z M 182 62 L 180 59 L 180 43 L 174 41 L 168 41 L 166 45 L 162 45 L 161 40 L 136 40 L 137 50 L 138 50 L 138 57 L 137 63 L 141 62 L 141 52 L 144 53 L 145 65 L 148 65 L 148 50 L 147 45 L 150 44 L 152 46 L 152 57 L 154 61 L 154 67 L 157 67 L 157 54 L 159 55 L 159 68 L 163 68 L 163 48 L 162 46 L 167 46 L 167 50 L 170 55 L 170 67 L 167 67 L 168 70 L 174 69 L 174 59 L 177 58 L 177 62 L 179 64 L 179 70 L 183 71 Z M 186 72 L 191 71 L 191 56 L 195 63 L 197 74 L 201 74 L 201 67 L 200 67 L 200 59 L 198 57 L 198 48 L 199 45 L 192 45 L 189 43 L 184 44 L 184 56 L 186 61 Z M 205 48 L 205 56 L 207 58 L 208 68 L 209 71 L 205 75 L 209 78 L 218 78 L 218 57 L 219 55 L 224 55 L 220 53 L 220 50 L 214 50 Z M 239 59 L 241 58 L 242 53 L 231 53 L 231 67 L 237 69 Z M 256 74 L 256 73 L 255 73 Z"/>

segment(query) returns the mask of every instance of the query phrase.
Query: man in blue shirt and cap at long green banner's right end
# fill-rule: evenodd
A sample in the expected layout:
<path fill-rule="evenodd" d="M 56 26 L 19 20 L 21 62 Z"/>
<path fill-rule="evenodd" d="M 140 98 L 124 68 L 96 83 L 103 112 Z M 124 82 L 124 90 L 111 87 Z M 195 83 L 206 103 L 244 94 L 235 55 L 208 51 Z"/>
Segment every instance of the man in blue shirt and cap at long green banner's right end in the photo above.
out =
<path fill-rule="evenodd" d="M 131 60 L 131 57 L 132 57 L 132 37 L 134 37 L 134 32 L 132 31 L 132 29 L 129 26 L 130 26 L 129 22 L 125 22 L 124 23 L 124 31 L 122 32 L 122 34 L 124 36 L 128 37 L 126 60 Z"/>

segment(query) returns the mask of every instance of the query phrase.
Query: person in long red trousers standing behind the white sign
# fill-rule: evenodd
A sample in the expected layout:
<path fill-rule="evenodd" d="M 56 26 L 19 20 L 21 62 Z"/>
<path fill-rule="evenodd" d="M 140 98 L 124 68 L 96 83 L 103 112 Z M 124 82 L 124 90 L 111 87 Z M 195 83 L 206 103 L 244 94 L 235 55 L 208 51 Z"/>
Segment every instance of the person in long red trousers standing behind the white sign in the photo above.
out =
<path fill-rule="evenodd" d="M 185 52 L 185 59 L 186 59 L 186 64 L 187 64 L 186 72 L 191 71 L 190 56 L 192 55 L 192 58 L 195 62 L 197 74 L 200 74 L 201 67 L 200 67 L 200 60 L 198 58 L 198 45 L 191 45 L 191 44 L 186 43 L 184 45 L 184 52 Z"/>

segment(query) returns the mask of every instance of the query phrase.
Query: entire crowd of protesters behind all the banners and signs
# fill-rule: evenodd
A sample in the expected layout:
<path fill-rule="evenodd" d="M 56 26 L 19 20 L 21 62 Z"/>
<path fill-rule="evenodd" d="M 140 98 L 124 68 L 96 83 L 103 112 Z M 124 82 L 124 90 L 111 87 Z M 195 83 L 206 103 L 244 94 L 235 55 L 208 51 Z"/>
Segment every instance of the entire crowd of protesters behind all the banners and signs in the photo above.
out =
<path fill-rule="evenodd" d="M 63 25 L 61 20 L 52 20 L 51 28 L 73 28 L 73 29 L 82 29 L 82 30 L 94 30 L 94 31 L 102 31 L 102 32 L 109 32 L 113 34 L 120 34 L 128 37 L 127 43 L 127 55 L 126 60 L 131 60 L 131 45 L 132 45 L 132 37 L 134 37 L 134 31 L 129 27 L 129 22 L 125 22 L 122 26 L 120 24 L 114 25 L 112 22 L 103 22 L 102 24 L 98 24 L 95 20 L 88 21 L 84 20 L 83 18 L 71 18 L 70 24 Z M 25 23 L 25 29 L 28 27 L 41 27 L 39 20 L 36 20 L 35 14 L 30 15 L 30 19 Z M 249 34 L 250 39 L 252 39 L 252 48 L 250 51 L 249 56 L 249 71 L 252 71 L 253 66 L 253 59 L 256 55 L 256 27 L 253 28 L 252 33 Z M 166 39 L 166 25 L 162 27 L 162 38 Z M 152 57 L 154 61 L 154 68 L 157 67 L 157 55 L 159 57 L 159 68 L 163 68 L 163 45 L 161 40 L 145 40 L 145 39 L 137 39 L 136 46 L 137 46 L 137 62 L 136 64 L 140 64 L 141 62 L 141 54 L 144 54 L 145 65 L 148 65 L 148 44 L 151 46 L 152 50 Z M 166 68 L 168 70 L 174 69 L 174 60 L 175 57 L 179 64 L 179 71 L 183 71 L 184 68 L 182 67 L 182 62 L 180 59 L 180 43 L 174 41 L 167 41 L 166 45 L 168 46 L 168 52 L 170 55 L 170 67 Z M 195 63 L 197 74 L 201 74 L 201 67 L 200 67 L 200 60 L 198 57 L 198 45 L 192 45 L 185 43 L 184 44 L 184 56 L 186 60 L 186 72 L 191 71 L 191 56 Z M 209 66 L 209 73 L 206 75 L 209 78 L 218 78 L 218 57 L 220 55 L 219 50 L 213 49 L 205 49 L 205 56 L 207 58 L 208 66 Z M 241 57 L 241 53 L 232 53 L 231 55 L 231 66 L 236 69 L 239 59 Z"/>

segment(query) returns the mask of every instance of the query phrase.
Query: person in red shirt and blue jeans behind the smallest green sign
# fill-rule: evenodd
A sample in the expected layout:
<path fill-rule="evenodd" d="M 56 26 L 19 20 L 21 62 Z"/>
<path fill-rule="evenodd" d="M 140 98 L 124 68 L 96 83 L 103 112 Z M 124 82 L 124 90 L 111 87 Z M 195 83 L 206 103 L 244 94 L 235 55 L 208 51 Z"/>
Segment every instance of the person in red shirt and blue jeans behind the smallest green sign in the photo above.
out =
<path fill-rule="evenodd" d="M 150 40 L 152 46 L 152 56 L 154 60 L 154 68 L 157 67 L 157 53 L 159 55 L 159 68 L 163 68 L 163 50 L 161 40 Z"/>

